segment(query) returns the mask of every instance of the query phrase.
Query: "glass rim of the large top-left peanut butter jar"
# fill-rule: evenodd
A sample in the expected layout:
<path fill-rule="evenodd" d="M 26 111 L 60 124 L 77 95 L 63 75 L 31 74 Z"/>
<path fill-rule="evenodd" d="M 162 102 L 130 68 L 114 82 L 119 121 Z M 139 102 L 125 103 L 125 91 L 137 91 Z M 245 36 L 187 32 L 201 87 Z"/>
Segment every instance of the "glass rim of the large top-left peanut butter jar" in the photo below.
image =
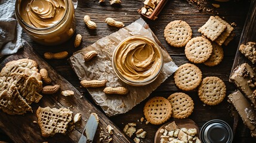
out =
<path fill-rule="evenodd" d="M 69 9 L 69 0 L 63 0 L 63 1 L 65 2 L 66 10 L 65 10 L 63 16 L 61 17 L 61 19 L 60 19 L 57 23 L 53 24 L 53 26 L 45 27 L 45 28 L 37 28 L 37 27 L 34 27 L 34 26 L 30 26 L 29 24 L 27 24 L 27 23 L 23 20 L 23 18 L 22 18 L 21 15 L 20 15 L 20 7 L 19 7 L 19 4 L 18 4 L 19 1 L 22 1 L 22 0 L 17 0 L 16 3 L 15 3 L 15 15 L 16 15 L 16 18 L 18 19 L 18 21 L 20 21 L 22 24 L 24 24 L 24 26 L 28 27 L 29 29 L 39 30 L 39 31 L 41 31 L 41 30 L 51 30 L 51 29 L 53 29 L 55 26 L 57 26 L 58 24 L 60 24 L 61 21 L 63 21 L 65 15 L 67 15 L 67 11 L 68 11 L 68 9 Z"/>

